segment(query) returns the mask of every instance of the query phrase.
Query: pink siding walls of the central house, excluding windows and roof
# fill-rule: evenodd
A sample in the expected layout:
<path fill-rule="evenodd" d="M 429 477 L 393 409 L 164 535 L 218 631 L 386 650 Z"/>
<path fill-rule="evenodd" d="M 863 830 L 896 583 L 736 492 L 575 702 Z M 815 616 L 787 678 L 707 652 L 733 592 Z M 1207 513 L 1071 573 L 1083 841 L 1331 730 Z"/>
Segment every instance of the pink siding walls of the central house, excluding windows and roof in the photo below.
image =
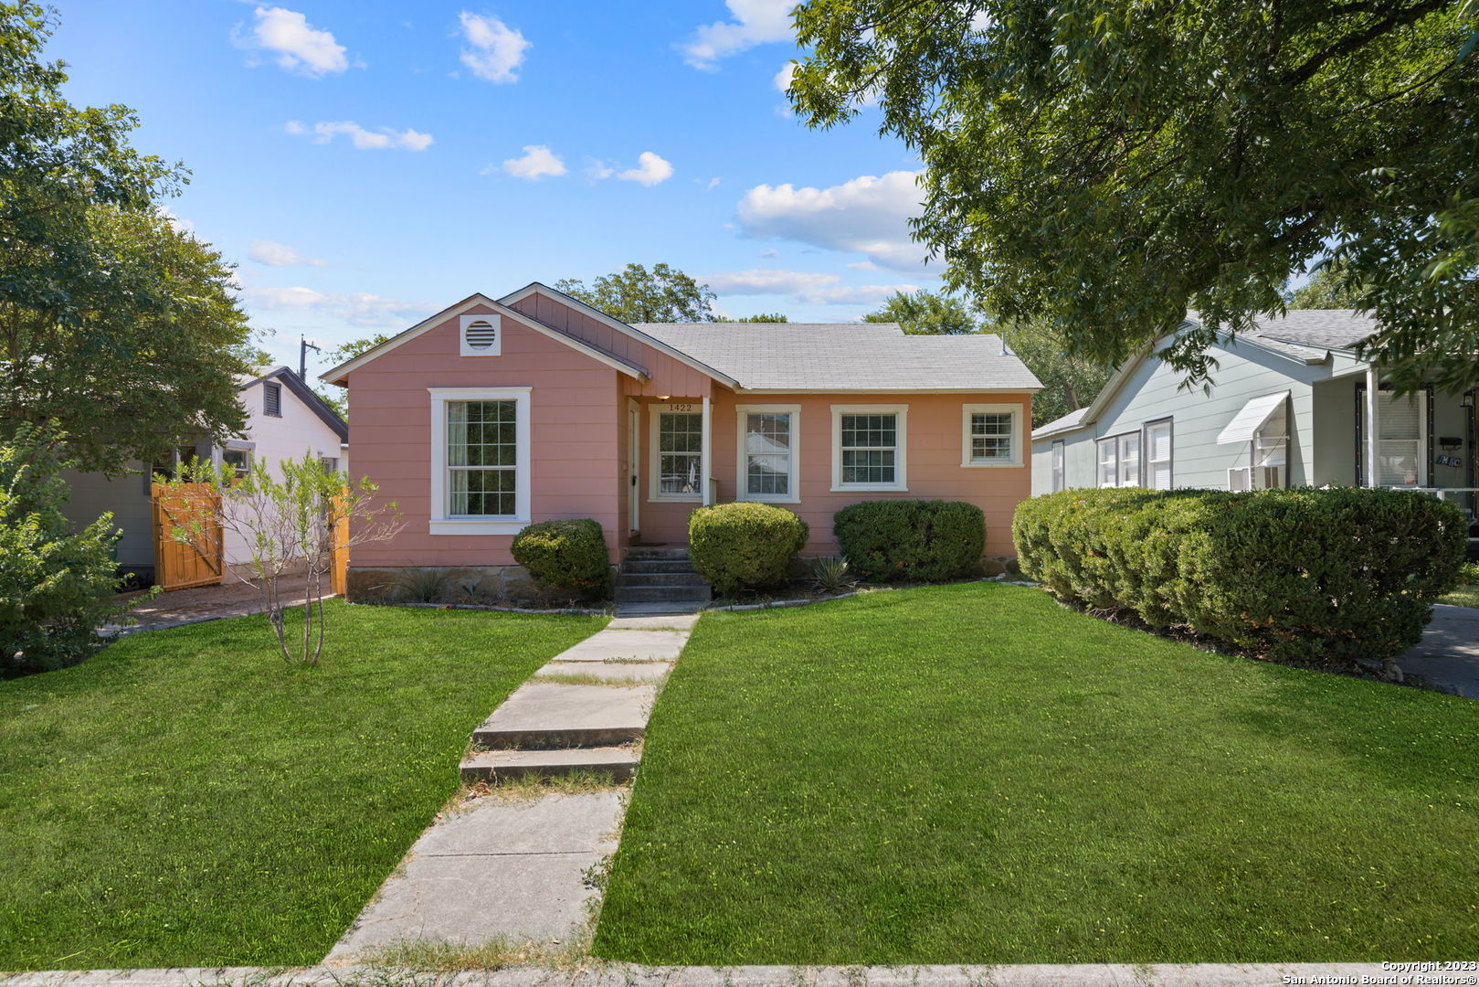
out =
<path fill-rule="evenodd" d="M 383 500 L 396 500 L 405 530 L 393 540 L 362 545 L 352 565 L 509 565 L 513 536 L 433 536 L 430 518 L 430 395 L 427 388 L 531 388 L 532 494 L 535 521 L 595 518 L 606 533 L 612 559 L 627 543 L 627 400 L 640 404 L 636 487 L 640 540 L 682 543 L 694 503 L 654 502 L 651 414 L 663 402 L 700 405 L 713 401 L 711 475 L 719 500 L 737 493 L 738 405 L 800 405 L 797 450 L 802 462 L 802 502 L 785 505 L 812 528 L 808 555 L 837 552 L 833 513 L 858 500 L 923 497 L 966 500 L 986 515 L 986 555 L 1012 555 L 1010 522 L 1018 502 L 1029 494 L 1026 394 L 744 394 L 714 385 L 705 374 L 652 349 L 599 320 L 541 294 L 519 302 L 521 311 L 566 331 L 600 351 L 645 367 L 651 380 L 636 380 L 586 357 L 540 331 L 503 321 L 501 355 L 458 355 L 458 320 L 448 318 L 349 374 L 355 428 L 355 472 L 380 484 Z M 484 312 L 475 308 L 470 312 Z M 908 491 L 873 493 L 831 490 L 831 405 L 907 404 Z M 963 468 L 961 405 L 1018 404 L 1022 466 Z"/>

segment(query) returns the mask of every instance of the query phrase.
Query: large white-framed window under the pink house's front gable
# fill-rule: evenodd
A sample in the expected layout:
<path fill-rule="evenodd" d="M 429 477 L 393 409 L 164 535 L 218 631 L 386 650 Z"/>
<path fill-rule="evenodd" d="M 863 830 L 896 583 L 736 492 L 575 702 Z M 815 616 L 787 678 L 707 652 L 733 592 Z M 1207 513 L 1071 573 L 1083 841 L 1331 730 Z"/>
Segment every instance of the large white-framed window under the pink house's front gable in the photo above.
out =
<path fill-rule="evenodd" d="M 529 522 L 529 389 L 430 388 L 432 534 Z"/>

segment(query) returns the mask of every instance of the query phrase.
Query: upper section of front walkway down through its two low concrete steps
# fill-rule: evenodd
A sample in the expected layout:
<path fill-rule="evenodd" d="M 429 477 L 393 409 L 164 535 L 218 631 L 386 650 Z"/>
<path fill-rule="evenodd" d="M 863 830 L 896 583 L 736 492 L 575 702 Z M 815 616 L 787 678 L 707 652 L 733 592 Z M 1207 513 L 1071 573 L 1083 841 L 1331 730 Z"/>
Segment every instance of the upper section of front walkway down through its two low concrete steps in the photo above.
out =
<path fill-rule="evenodd" d="M 615 620 L 555 656 L 472 732 L 463 780 L 630 778 L 658 687 L 697 620 Z"/>

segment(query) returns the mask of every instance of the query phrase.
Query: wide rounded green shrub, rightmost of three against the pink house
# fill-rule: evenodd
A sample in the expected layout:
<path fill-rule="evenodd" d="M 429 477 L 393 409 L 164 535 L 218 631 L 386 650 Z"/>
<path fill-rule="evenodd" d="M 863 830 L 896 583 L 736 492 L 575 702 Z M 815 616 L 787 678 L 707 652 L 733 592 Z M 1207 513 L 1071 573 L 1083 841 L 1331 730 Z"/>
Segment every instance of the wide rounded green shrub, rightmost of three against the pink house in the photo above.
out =
<path fill-rule="evenodd" d="M 939 583 L 981 573 L 986 518 L 960 500 L 862 500 L 833 516 L 833 534 L 861 579 Z"/>

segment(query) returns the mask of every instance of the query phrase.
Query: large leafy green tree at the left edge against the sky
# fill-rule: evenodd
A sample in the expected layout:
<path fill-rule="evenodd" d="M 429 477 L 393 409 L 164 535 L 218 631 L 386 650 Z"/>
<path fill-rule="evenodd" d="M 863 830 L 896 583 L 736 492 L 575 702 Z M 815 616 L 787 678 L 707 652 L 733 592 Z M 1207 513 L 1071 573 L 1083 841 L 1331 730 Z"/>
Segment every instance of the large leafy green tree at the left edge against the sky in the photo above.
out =
<path fill-rule="evenodd" d="M 129 145 L 127 108 L 62 98 L 50 30 L 0 3 L 0 434 L 65 432 L 78 466 L 121 472 L 243 428 L 250 333 L 229 265 L 158 207 L 185 172 Z"/>

